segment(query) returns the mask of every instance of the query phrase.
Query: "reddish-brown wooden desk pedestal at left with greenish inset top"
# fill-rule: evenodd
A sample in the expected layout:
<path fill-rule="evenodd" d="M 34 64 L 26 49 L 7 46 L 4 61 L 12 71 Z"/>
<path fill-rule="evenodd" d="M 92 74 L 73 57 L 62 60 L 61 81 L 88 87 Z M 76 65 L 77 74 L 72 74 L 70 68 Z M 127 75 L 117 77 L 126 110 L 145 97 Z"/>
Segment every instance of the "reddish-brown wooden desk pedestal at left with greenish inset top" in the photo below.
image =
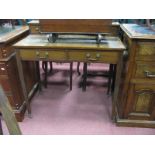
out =
<path fill-rule="evenodd" d="M 18 121 L 24 119 L 26 110 L 24 95 L 17 68 L 16 53 L 12 47 L 14 43 L 29 34 L 28 26 L 0 28 L 0 85 L 2 86 Z M 35 62 L 23 62 L 24 77 L 31 98 L 37 87 Z"/>

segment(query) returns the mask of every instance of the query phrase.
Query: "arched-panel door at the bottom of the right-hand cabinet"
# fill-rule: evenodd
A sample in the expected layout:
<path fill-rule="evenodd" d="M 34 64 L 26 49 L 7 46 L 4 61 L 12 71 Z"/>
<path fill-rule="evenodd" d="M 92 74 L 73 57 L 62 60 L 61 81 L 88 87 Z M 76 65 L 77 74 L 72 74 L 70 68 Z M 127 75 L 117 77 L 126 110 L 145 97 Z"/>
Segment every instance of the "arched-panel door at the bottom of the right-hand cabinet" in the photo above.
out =
<path fill-rule="evenodd" d="M 155 85 L 131 84 L 124 115 L 129 119 L 155 120 Z"/>

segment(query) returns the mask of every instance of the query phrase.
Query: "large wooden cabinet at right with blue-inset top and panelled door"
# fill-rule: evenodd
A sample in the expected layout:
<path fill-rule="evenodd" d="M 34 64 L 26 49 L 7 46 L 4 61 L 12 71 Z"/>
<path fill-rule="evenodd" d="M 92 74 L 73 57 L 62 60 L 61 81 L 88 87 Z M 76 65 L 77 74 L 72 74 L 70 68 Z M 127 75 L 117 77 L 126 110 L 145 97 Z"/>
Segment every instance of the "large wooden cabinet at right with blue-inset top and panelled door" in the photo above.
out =
<path fill-rule="evenodd" d="M 121 25 L 128 49 L 124 64 L 117 124 L 155 127 L 155 32 L 136 24 Z"/>

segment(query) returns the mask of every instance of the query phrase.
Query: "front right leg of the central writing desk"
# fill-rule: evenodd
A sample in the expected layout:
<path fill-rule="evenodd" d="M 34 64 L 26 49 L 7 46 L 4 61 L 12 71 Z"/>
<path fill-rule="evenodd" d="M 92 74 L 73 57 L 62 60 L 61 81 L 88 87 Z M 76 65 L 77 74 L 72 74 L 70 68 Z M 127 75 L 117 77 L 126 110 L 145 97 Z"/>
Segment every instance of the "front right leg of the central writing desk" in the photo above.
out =
<path fill-rule="evenodd" d="M 115 81 L 114 96 L 112 101 L 112 119 L 114 122 L 116 122 L 116 107 L 117 107 L 118 94 L 119 94 L 119 88 L 121 83 L 122 66 L 123 66 L 123 55 L 120 56 L 119 62 L 116 67 L 116 81 Z"/>

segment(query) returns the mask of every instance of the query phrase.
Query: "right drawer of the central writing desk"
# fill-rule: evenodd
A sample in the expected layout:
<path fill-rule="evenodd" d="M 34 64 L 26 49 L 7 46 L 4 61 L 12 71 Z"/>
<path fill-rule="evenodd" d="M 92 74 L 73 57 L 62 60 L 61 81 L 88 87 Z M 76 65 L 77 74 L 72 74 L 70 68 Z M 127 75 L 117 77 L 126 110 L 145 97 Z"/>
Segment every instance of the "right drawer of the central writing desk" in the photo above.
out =
<path fill-rule="evenodd" d="M 68 51 L 70 61 L 117 63 L 119 52 Z"/>

